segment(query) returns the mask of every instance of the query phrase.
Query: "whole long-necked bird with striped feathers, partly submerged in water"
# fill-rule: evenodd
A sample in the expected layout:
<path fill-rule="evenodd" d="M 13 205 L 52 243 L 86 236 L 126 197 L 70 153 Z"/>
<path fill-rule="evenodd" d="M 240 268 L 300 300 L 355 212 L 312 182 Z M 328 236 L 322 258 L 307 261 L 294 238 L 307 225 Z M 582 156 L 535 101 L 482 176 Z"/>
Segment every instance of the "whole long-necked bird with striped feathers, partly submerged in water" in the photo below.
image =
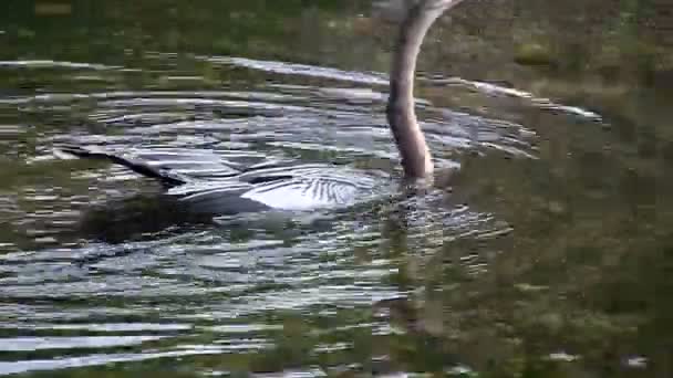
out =
<path fill-rule="evenodd" d="M 414 112 L 414 73 L 423 39 L 433 22 L 462 0 L 416 1 L 401 25 L 392 62 L 386 115 L 407 179 L 427 181 L 433 162 Z M 214 214 L 269 209 L 348 207 L 380 193 L 390 179 L 343 166 L 262 162 L 242 166 L 208 151 L 114 150 L 61 146 L 59 154 L 110 160 L 157 179 L 169 196 L 197 212 Z"/>

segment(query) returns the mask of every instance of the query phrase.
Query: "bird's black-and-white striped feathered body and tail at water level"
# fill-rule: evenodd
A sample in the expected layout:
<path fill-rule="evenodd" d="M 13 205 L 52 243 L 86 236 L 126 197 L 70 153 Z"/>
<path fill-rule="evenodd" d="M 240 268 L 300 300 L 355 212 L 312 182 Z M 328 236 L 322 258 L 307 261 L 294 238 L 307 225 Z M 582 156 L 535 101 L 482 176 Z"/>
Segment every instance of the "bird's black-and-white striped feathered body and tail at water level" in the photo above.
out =
<path fill-rule="evenodd" d="M 169 186 L 167 195 L 208 213 L 341 208 L 366 200 L 383 182 L 383 177 L 343 166 L 297 165 L 286 160 L 246 166 L 209 150 L 115 151 L 97 147 L 63 150 L 85 158 L 108 159 L 159 179 Z M 248 160 L 250 157 L 258 158 L 247 156 Z"/>

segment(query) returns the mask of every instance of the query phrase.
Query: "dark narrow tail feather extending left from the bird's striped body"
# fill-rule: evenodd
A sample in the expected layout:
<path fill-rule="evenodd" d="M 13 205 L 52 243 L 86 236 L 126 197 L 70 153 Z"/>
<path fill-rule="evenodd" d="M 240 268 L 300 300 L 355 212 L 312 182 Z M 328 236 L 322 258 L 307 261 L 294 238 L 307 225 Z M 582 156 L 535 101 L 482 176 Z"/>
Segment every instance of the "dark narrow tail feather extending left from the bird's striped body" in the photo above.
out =
<path fill-rule="evenodd" d="M 174 187 L 178 185 L 183 185 L 186 181 L 175 175 L 172 175 L 169 171 L 164 169 L 157 169 L 155 167 L 149 166 L 145 161 L 136 160 L 131 157 L 125 157 L 121 154 L 116 154 L 114 151 L 107 151 L 104 148 L 95 147 L 95 146 L 76 146 L 76 145 L 62 145 L 55 148 L 56 155 L 70 155 L 79 158 L 85 159 L 99 159 L 99 160 L 110 160 L 114 164 L 118 164 L 124 166 L 134 172 L 157 179 L 162 181 L 162 183 Z"/>

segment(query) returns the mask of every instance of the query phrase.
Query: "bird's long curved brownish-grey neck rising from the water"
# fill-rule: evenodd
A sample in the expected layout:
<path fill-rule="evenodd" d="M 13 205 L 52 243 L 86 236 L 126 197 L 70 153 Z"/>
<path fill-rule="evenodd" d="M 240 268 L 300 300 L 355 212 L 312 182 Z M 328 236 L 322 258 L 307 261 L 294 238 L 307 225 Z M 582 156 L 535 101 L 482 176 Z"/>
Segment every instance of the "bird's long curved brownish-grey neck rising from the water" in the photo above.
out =
<path fill-rule="evenodd" d="M 433 22 L 448 8 L 463 0 L 421 0 L 402 22 L 393 56 L 387 120 L 410 178 L 428 178 L 433 161 L 414 112 L 414 73 L 421 44 Z"/>

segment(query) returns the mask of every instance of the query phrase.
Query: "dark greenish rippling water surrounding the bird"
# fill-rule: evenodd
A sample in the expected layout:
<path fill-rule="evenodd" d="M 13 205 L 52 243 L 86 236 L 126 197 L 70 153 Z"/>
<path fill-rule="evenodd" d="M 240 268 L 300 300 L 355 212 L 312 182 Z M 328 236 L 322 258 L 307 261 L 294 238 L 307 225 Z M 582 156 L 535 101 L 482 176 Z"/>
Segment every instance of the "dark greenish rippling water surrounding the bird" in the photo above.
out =
<path fill-rule="evenodd" d="M 542 19 L 593 64 L 596 36 L 562 33 L 588 23 L 572 8 L 468 2 L 435 27 L 417 112 L 437 182 L 400 198 L 386 7 L 2 7 L 0 375 L 670 374 L 665 77 L 507 52 L 504 24 Z M 61 141 L 392 183 L 339 211 L 184 219 L 124 168 L 56 159 Z"/>

